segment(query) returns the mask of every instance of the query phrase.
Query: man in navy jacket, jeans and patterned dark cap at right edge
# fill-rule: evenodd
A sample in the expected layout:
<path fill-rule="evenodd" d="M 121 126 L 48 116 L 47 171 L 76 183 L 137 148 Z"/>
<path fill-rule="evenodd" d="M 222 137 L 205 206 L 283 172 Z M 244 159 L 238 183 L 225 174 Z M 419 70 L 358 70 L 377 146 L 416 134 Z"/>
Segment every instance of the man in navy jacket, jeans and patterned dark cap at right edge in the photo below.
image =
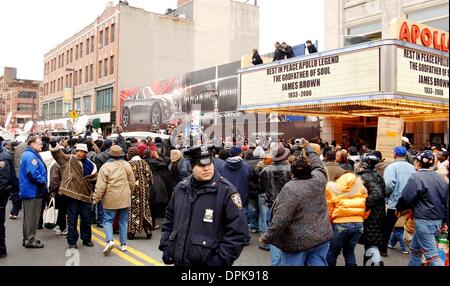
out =
<path fill-rule="evenodd" d="M 412 209 L 415 218 L 409 266 L 420 266 L 422 255 L 429 265 L 444 266 L 438 253 L 436 236 L 442 223 L 447 223 L 448 219 L 448 185 L 433 171 L 434 160 L 429 150 L 415 157 L 417 173 L 409 179 L 397 204 L 397 211 Z"/>

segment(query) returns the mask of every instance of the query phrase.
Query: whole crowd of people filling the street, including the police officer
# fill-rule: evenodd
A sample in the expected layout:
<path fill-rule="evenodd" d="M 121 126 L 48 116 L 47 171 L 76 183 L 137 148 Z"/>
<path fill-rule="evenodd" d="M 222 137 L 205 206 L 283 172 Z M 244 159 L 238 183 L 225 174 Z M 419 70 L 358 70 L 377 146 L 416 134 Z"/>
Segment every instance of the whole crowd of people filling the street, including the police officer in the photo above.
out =
<path fill-rule="evenodd" d="M 26 248 L 44 247 L 37 229 L 55 198 L 56 235 L 69 248 L 80 238 L 93 247 L 96 224 L 106 235 L 105 255 L 115 232 L 127 251 L 136 235 L 151 239 L 160 217 L 166 264 L 232 265 L 251 233 L 259 233 L 273 266 L 334 266 L 341 252 L 356 266 L 358 243 L 362 265 L 383 265 L 397 242 L 411 266 L 444 264 L 436 237 L 448 235 L 446 146 L 427 142 L 416 152 L 404 137 L 390 161 L 358 144 L 225 141 L 181 150 L 161 138 L 127 141 L 120 131 L 115 140 L 30 136 L 2 144 L 0 257 L 8 198 L 10 219 L 23 209 Z"/>

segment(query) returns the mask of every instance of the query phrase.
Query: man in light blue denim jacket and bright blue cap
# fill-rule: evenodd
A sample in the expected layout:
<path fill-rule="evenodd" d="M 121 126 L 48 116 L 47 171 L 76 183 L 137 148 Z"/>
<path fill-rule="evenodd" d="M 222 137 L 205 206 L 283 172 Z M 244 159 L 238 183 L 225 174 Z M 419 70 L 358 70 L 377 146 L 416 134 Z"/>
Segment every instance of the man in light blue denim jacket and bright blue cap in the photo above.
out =
<path fill-rule="evenodd" d="M 413 165 L 406 161 L 408 150 L 404 146 L 397 146 L 394 149 L 395 161 L 390 163 L 384 170 L 383 178 L 386 184 L 386 204 L 387 212 L 383 223 L 383 245 L 380 253 L 387 255 L 387 247 L 392 230 L 397 222 L 396 205 L 402 196 L 403 188 L 408 180 L 416 172 Z"/>

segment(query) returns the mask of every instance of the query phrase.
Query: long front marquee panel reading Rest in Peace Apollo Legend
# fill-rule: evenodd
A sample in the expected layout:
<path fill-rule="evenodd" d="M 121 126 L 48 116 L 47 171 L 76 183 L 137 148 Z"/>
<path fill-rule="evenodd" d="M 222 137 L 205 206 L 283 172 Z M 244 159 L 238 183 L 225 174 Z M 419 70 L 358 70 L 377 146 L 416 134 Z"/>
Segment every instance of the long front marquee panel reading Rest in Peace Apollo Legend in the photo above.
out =
<path fill-rule="evenodd" d="M 241 74 L 241 104 L 379 92 L 379 49 L 336 54 Z"/>

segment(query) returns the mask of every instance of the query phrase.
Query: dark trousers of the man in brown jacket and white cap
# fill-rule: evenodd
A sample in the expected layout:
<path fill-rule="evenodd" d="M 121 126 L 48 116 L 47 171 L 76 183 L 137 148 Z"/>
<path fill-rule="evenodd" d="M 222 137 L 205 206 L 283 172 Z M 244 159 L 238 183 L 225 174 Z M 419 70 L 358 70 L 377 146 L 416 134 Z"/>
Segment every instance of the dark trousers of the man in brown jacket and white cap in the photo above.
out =
<path fill-rule="evenodd" d="M 91 204 L 67 197 L 67 221 L 69 223 L 67 242 L 69 244 L 76 244 L 78 241 L 78 217 L 80 217 L 81 240 L 91 241 Z"/>

